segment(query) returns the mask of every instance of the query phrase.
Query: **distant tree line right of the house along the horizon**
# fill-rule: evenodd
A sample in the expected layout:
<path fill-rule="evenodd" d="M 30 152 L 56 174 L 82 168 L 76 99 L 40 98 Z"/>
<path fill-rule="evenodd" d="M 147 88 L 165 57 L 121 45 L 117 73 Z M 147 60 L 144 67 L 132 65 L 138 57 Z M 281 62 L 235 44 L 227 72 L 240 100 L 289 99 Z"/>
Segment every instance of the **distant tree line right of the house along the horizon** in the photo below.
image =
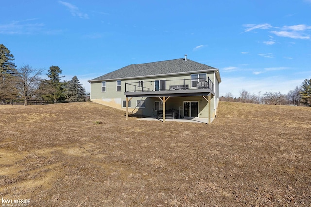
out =
<path fill-rule="evenodd" d="M 281 92 L 265 92 L 261 94 L 251 94 L 246 90 L 240 91 L 240 96 L 234 98 L 231 92 L 220 97 L 221 101 L 270 104 L 270 105 L 294 105 L 294 106 L 311 106 L 311 79 L 305 79 L 301 86 L 296 86 L 287 94 Z"/>

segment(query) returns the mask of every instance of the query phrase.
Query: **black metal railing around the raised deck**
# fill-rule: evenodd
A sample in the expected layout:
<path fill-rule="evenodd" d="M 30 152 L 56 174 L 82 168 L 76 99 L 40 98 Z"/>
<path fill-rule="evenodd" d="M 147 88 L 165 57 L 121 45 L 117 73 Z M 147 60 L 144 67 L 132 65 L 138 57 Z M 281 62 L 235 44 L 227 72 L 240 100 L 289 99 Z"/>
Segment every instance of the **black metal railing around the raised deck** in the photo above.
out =
<path fill-rule="evenodd" d="M 125 83 L 125 92 L 196 90 L 210 89 L 214 91 L 214 83 L 210 78 L 154 80 Z"/>

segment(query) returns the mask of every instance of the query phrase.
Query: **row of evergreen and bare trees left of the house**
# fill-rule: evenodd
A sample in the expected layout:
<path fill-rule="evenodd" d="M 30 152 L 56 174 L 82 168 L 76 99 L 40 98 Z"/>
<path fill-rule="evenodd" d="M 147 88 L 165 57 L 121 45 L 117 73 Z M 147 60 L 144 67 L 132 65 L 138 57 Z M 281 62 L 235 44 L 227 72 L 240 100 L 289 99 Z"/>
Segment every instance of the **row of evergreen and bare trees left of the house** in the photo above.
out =
<path fill-rule="evenodd" d="M 0 44 L 0 102 L 12 99 L 57 102 L 85 101 L 86 91 L 77 76 L 69 81 L 61 81 L 62 70 L 51 66 L 41 78 L 44 69 L 35 69 L 29 65 L 19 68 L 14 64 L 14 56 L 3 44 Z"/>

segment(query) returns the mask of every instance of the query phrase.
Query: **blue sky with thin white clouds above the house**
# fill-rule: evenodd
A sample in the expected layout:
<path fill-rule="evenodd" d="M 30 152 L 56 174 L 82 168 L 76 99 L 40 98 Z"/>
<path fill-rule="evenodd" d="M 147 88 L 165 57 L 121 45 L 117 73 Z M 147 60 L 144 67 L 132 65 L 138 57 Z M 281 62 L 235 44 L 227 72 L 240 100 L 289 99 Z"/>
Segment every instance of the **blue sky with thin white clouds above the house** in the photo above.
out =
<path fill-rule="evenodd" d="M 311 0 L 7 0 L 0 43 L 20 67 L 87 80 L 187 58 L 218 68 L 220 96 L 287 93 L 311 78 Z"/>

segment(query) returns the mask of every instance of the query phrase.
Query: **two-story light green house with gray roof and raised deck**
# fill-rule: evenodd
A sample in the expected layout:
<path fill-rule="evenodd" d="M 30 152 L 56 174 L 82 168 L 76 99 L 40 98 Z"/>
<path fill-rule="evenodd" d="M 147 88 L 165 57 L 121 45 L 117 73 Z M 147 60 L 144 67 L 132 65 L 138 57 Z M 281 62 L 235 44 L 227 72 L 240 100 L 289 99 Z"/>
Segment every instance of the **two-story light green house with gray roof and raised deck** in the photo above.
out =
<path fill-rule="evenodd" d="M 166 118 L 215 117 L 219 70 L 185 58 L 131 64 L 89 80 L 91 101 L 128 113 Z M 171 109 L 178 116 L 172 117 Z M 165 111 L 165 112 L 164 112 Z M 169 117 L 170 116 L 170 117 Z"/>

